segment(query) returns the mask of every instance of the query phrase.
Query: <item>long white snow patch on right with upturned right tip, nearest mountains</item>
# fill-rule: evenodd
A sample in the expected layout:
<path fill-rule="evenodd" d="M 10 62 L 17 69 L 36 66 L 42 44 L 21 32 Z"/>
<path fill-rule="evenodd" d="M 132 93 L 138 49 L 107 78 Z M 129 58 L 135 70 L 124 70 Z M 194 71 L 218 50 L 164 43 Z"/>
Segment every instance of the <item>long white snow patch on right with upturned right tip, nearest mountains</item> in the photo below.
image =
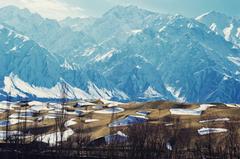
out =
<path fill-rule="evenodd" d="M 212 104 L 201 104 L 200 107 L 196 109 L 182 109 L 182 108 L 173 108 L 170 109 L 172 115 L 193 115 L 200 116 L 203 111 L 206 111 L 209 107 L 214 107 Z"/>

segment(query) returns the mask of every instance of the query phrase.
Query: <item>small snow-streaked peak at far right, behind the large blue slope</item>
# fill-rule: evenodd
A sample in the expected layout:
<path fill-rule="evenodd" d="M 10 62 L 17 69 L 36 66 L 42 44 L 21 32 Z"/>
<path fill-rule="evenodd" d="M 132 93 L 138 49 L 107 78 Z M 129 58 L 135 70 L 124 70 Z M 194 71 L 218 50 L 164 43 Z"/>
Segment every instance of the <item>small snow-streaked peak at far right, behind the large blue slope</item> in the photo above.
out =
<path fill-rule="evenodd" d="M 240 47 L 240 19 L 212 11 L 197 17 L 196 20 L 206 24 L 212 31 L 223 36 L 225 40 Z"/>

